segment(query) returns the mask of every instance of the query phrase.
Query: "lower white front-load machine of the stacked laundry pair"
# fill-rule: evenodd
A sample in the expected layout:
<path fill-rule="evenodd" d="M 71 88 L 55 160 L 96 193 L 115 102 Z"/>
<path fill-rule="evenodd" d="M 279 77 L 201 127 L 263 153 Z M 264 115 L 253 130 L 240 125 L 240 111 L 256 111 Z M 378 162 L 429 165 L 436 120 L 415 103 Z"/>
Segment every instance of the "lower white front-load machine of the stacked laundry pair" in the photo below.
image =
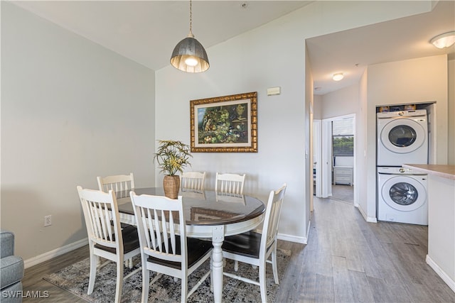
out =
<path fill-rule="evenodd" d="M 427 175 L 378 167 L 378 219 L 428 225 Z"/>

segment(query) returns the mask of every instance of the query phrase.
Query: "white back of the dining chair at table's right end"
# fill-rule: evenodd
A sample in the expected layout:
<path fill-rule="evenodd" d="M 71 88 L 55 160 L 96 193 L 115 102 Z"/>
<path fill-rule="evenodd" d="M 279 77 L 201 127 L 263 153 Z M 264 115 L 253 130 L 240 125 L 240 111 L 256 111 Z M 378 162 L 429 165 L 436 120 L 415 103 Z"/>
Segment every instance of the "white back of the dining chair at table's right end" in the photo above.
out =
<path fill-rule="evenodd" d="M 280 189 L 272 190 L 269 194 L 262 227 L 261 250 L 269 248 L 277 240 L 279 215 L 281 214 L 286 187 L 287 184 L 284 183 Z"/>

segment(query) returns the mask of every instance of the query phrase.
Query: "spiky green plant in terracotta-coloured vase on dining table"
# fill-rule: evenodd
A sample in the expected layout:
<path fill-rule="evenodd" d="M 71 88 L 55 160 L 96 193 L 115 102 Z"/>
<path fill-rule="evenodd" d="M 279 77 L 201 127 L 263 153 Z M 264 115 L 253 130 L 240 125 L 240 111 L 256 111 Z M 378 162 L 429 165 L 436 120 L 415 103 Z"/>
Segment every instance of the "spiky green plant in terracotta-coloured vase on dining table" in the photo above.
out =
<path fill-rule="evenodd" d="M 158 163 L 160 172 L 164 172 L 164 195 L 171 199 L 177 199 L 180 189 L 180 176 L 177 172 L 183 172 L 183 167 L 190 165 L 189 158 L 193 157 L 190 147 L 181 141 L 159 140 L 159 147 L 154 155 L 154 161 Z"/>

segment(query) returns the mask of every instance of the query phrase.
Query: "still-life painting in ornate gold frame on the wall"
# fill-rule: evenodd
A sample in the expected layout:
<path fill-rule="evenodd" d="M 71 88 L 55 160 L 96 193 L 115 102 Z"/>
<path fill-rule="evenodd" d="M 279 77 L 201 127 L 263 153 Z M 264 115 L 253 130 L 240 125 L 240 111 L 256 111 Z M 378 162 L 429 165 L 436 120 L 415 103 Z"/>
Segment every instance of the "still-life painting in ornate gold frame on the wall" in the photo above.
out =
<path fill-rule="evenodd" d="M 257 153 L 257 92 L 190 101 L 191 153 Z"/>

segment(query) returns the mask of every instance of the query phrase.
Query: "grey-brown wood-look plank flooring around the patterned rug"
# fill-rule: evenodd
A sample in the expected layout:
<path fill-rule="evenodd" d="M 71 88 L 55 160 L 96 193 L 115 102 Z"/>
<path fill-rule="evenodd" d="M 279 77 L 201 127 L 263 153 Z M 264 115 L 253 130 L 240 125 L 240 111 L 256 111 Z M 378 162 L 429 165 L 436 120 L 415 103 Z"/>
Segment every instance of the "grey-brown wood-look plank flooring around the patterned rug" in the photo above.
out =
<path fill-rule="evenodd" d="M 427 234 L 427 226 L 368 223 L 352 204 L 314 197 L 308 243 L 279 241 L 292 255 L 277 302 L 455 302 L 425 263 Z M 24 292 L 49 297 L 23 302 L 85 302 L 42 277 L 87 256 L 84 246 L 27 268 Z"/>

